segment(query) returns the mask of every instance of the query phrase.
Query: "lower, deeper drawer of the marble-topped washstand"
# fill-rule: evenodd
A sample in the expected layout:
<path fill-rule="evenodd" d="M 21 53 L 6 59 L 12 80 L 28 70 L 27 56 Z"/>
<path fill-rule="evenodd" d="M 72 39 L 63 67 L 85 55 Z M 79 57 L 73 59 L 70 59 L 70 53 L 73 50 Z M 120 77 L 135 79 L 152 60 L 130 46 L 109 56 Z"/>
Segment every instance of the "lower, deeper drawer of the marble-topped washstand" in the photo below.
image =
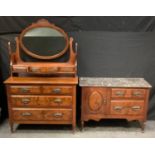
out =
<path fill-rule="evenodd" d="M 111 101 L 110 113 L 114 115 L 142 115 L 144 114 L 143 100 Z"/>

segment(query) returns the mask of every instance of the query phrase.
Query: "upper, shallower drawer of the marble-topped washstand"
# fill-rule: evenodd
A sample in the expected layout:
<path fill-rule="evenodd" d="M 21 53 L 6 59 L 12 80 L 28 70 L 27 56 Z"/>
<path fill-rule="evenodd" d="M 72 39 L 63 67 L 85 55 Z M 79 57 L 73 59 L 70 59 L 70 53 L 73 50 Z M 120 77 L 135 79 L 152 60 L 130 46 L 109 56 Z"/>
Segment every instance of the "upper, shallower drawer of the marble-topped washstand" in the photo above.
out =
<path fill-rule="evenodd" d="M 144 98 L 145 92 L 145 89 L 112 88 L 111 96 L 113 98 Z"/>

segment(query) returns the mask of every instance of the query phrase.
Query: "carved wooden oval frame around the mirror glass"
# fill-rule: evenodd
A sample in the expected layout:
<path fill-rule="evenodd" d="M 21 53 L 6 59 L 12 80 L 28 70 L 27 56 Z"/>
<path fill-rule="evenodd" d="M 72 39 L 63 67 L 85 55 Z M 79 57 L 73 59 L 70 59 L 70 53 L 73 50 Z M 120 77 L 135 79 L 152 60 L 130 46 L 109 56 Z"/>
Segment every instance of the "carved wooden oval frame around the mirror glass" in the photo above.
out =
<path fill-rule="evenodd" d="M 30 50 L 28 50 L 24 44 L 23 44 L 23 37 L 24 35 L 34 29 L 34 28 L 39 28 L 39 27 L 47 27 L 47 28 L 51 28 L 51 29 L 54 29 L 58 32 L 60 32 L 63 36 L 64 36 L 64 39 L 66 41 L 66 46 L 65 48 L 60 51 L 58 54 L 55 54 L 55 55 L 51 55 L 51 56 L 40 56 L 40 55 L 37 55 L 37 54 L 34 54 L 33 52 L 31 52 Z M 30 25 L 29 27 L 27 27 L 26 29 L 24 29 L 22 31 L 22 33 L 20 34 L 19 36 L 19 44 L 21 46 L 21 48 L 23 49 L 23 51 L 28 54 L 29 56 L 33 57 L 33 58 L 36 58 L 36 59 L 42 59 L 42 60 L 50 60 L 50 59 L 55 59 L 55 58 L 58 58 L 60 56 L 62 56 L 63 54 L 65 54 L 67 52 L 67 49 L 69 47 L 69 38 L 68 38 L 68 35 L 64 32 L 63 29 L 61 29 L 60 27 L 57 27 L 55 26 L 54 24 L 48 22 L 48 20 L 46 19 L 41 19 L 39 21 L 37 21 L 36 23 L 33 23 L 32 25 Z"/>

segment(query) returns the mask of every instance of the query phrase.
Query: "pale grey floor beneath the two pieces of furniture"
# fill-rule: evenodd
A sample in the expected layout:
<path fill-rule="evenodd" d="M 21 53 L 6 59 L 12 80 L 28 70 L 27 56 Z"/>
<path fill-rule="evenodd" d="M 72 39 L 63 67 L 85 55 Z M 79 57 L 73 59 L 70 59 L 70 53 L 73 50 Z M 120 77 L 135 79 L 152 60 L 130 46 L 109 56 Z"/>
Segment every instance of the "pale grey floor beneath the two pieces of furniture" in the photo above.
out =
<path fill-rule="evenodd" d="M 73 134 L 70 126 L 16 125 L 10 133 L 8 120 L 0 124 L 1 138 L 155 138 L 155 121 L 147 121 L 142 133 L 138 122 L 102 121 L 88 122 L 81 132 Z"/>

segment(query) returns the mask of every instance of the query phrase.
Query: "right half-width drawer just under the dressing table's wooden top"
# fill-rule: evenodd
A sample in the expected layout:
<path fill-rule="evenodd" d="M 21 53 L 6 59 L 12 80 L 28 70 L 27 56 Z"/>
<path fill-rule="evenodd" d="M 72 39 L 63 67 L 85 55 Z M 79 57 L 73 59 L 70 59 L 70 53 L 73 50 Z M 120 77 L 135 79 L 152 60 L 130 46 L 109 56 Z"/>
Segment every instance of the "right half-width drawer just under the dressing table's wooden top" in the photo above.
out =
<path fill-rule="evenodd" d="M 43 94 L 71 95 L 72 91 L 72 86 L 43 86 Z"/>

